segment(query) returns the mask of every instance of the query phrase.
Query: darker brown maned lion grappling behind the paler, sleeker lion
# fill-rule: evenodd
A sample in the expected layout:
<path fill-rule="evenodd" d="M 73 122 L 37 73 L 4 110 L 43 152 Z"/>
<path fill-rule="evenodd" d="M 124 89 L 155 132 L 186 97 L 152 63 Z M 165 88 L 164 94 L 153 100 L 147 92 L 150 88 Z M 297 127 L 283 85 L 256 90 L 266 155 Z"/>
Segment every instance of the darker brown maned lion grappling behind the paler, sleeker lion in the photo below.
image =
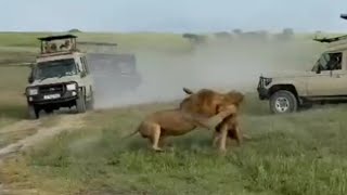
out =
<path fill-rule="evenodd" d="M 220 105 L 232 104 L 235 105 L 239 110 L 241 103 L 244 101 L 244 94 L 234 90 L 228 93 L 219 93 L 209 89 L 201 89 L 194 93 L 192 90 L 183 88 L 183 91 L 190 96 L 185 98 L 180 103 L 180 108 L 193 114 L 205 115 L 206 117 L 218 114 L 219 110 L 217 109 Z M 246 134 L 241 135 L 242 133 L 236 118 L 237 114 L 233 113 L 223 118 L 223 120 L 215 128 L 213 145 L 220 140 L 220 148 L 224 150 L 227 136 L 229 139 L 235 139 L 239 145 L 242 143 L 242 138 L 250 139 Z"/>

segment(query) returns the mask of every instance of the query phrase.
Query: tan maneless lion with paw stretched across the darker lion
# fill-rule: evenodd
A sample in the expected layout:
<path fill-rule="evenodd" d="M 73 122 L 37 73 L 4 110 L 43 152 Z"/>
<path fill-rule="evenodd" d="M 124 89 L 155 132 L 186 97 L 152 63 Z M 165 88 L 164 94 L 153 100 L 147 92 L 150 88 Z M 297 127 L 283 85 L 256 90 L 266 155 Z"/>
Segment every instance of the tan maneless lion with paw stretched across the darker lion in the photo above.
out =
<path fill-rule="evenodd" d="M 234 105 L 219 107 L 219 114 L 211 118 L 226 118 L 236 112 Z M 163 151 L 164 141 L 167 136 L 185 134 L 196 127 L 208 128 L 209 118 L 188 114 L 179 108 L 155 112 L 144 118 L 138 129 L 129 134 L 131 136 L 140 133 L 142 138 L 149 139 L 154 151 Z M 218 120 L 217 120 L 218 121 Z M 220 120 L 221 121 L 221 120 Z M 220 123 L 218 121 L 218 123 Z"/>

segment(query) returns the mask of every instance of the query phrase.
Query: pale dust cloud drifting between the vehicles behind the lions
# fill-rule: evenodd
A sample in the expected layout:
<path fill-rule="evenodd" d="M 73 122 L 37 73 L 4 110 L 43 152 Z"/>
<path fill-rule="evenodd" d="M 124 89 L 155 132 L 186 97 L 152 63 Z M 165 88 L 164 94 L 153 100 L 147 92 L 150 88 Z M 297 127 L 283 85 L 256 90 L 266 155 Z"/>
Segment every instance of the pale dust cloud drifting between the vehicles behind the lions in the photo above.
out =
<path fill-rule="evenodd" d="M 183 54 L 140 50 L 136 56 L 141 83 L 131 88 L 117 78 L 95 79 L 95 107 L 170 102 L 185 96 L 182 87 L 256 92 L 261 74 L 307 69 L 316 57 L 307 56 L 313 53 L 312 46 L 296 41 L 209 42 Z"/>

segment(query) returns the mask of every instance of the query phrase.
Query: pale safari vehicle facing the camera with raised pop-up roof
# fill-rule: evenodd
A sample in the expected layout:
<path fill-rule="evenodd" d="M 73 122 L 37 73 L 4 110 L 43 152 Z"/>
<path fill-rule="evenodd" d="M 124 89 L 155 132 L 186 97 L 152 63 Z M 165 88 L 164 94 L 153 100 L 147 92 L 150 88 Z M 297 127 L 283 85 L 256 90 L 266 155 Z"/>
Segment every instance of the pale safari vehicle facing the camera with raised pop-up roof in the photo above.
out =
<path fill-rule="evenodd" d="M 31 66 L 25 91 L 31 119 L 39 118 L 40 110 L 52 113 L 76 106 L 78 113 L 85 113 L 93 108 L 94 81 L 86 53 L 76 47 L 76 38 L 74 35 L 38 38 L 40 53 Z"/>

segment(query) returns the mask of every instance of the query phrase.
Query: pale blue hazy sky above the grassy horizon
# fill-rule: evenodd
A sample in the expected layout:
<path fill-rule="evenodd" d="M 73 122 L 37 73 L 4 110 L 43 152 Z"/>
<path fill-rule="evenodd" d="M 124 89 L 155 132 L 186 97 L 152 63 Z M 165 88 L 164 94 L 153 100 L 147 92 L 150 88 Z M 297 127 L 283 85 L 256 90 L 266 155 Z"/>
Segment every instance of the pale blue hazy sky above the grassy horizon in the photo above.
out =
<path fill-rule="evenodd" d="M 2 0 L 0 30 L 347 31 L 347 0 Z"/>

